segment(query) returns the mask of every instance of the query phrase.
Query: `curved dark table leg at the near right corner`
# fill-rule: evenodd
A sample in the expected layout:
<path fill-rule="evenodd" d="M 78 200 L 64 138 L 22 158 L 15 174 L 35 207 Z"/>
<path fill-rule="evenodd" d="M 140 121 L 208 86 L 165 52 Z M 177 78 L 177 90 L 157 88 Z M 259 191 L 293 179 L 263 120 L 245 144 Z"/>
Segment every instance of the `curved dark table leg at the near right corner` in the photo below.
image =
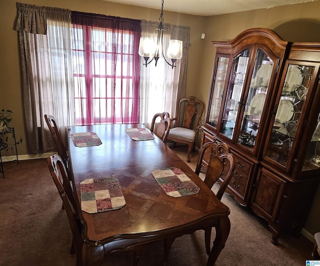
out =
<path fill-rule="evenodd" d="M 215 228 L 215 239 L 213 241 L 213 247 L 209 254 L 207 266 L 213 266 L 216 259 L 218 258 L 221 250 L 224 248 L 224 244 L 229 236 L 230 233 L 230 220 L 226 217 L 221 217 L 218 219 L 218 224 Z"/>

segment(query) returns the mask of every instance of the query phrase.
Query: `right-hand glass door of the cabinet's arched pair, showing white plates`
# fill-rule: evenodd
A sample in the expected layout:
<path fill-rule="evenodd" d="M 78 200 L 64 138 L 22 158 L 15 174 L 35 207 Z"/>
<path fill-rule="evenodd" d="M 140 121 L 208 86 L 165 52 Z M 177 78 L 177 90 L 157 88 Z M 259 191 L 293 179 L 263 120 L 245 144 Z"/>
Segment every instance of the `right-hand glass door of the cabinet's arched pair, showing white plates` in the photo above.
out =
<path fill-rule="evenodd" d="M 262 49 L 257 49 L 250 79 L 247 100 L 240 102 L 244 106 L 238 143 L 253 150 L 260 125 L 266 93 L 269 89 L 273 60 Z"/>

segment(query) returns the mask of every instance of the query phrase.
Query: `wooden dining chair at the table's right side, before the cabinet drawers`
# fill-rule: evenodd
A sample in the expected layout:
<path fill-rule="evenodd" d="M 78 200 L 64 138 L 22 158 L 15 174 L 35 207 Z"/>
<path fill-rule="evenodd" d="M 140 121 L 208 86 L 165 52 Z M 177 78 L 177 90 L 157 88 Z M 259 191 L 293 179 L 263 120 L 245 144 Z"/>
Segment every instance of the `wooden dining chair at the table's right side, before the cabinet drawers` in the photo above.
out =
<path fill-rule="evenodd" d="M 233 163 L 233 156 L 229 151 L 229 147 L 225 143 L 205 143 L 199 152 L 198 161 L 194 171 L 197 175 L 199 175 L 202 167 L 203 156 L 205 156 L 206 161 L 208 161 L 208 166 L 203 182 L 211 189 L 216 182 L 220 183 L 220 186 L 216 192 L 216 197 L 221 200 L 223 193 L 225 192 L 225 189 L 232 178 L 232 172 L 235 168 L 235 165 Z M 210 254 L 212 228 L 203 228 L 202 230 L 204 230 L 205 252 L 206 254 Z M 185 234 L 191 233 L 193 232 L 186 232 Z M 174 242 L 174 239 L 175 238 L 164 239 L 163 265 L 167 265 L 169 251 L 171 249 L 172 243 Z"/>

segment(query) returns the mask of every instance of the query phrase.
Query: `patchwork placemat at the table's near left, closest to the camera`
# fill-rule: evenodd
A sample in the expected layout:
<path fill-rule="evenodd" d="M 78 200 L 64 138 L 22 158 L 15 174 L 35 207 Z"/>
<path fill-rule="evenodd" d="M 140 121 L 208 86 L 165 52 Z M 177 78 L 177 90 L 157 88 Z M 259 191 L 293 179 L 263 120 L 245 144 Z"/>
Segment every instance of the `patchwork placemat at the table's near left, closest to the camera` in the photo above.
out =
<path fill-rule="evenodd" d="M 125 205 L 115 177 L 89 178 L 80 183 L 81 210 L 90 214 L 118 210 Z"/>

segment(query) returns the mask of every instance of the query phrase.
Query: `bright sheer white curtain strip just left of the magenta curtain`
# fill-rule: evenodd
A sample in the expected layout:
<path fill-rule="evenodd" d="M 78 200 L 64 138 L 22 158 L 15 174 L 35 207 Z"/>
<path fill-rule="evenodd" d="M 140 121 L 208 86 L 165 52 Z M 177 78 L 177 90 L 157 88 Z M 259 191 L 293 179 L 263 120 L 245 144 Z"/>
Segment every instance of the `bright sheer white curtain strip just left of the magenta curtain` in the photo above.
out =
<path fill-rule="evenodd" d="M 67 146 L 68 127 L 74 125 L 74 86 L 71 50 L 71 14 L 48 12 L 47 39 L 51 68 L 52 115 Z"/>

